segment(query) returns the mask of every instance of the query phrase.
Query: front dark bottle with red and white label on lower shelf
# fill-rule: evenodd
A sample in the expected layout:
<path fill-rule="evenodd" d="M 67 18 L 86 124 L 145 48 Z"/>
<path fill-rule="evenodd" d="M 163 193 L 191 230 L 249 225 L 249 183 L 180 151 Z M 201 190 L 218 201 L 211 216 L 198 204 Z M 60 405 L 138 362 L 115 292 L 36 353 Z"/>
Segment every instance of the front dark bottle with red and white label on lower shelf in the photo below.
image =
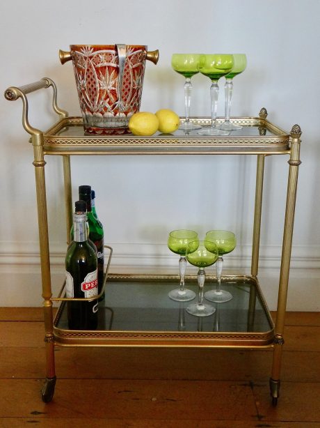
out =
<path fill-rule="evenodd" d="M 94 298 L 98 294 L 97 254 L 88 243 L 86 217 L 86 213 L 73 214 L 74 240 L 65 257 L 67 298 Z M 70 330 L 95 330 L 97 310 L 97 299 L 67 300 Z"/>

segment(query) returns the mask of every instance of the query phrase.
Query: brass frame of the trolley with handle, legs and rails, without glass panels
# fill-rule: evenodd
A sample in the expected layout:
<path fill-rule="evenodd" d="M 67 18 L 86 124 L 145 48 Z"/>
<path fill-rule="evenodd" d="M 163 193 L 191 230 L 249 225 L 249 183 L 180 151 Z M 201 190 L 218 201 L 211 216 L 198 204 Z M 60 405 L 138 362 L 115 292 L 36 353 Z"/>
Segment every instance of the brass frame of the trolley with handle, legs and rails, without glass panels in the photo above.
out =
<path fill-rule="evenodd" d="M 28 120 L 28 100 L 26 94 L 42 88 L 53 89 L 53 108 L 59 116 L 59 121 L 47 132 L 33 128 Z M 51 293 L 51 275 L 49 263 L 49 238 L 47 223 L 47 201 L 45 188 L 45 155 L 62 155 L 63 173 L 65 185 L 65 212 L 67 226 L 67 241 L 72 225 L 72 194 L 71 194 L 71 169 L 70 155 L 133 155 L 133 154 L 237 154 L 257 155 L 257 175 L 255 188 L 255 213 L 253 225 L 253 247 L 251 261 L 250 281 L 257 284 L 257 273 L 259 263 L 259 240 L 262 216 L 262 191 L 264 181 L 264 160 L 267 155 L 289 155 L 289 176 L 287 185 L 287 203 L 285 209 L 285 226 L 282 241 L 282 258 L 280 266 L 280 280 L 278 288 L 278 307 L 275 325 L 262 337 L 246 335 L 233 336 L 215 335 L 214 333 L 198 333 L 185 335 L 174 332 L 163 334 L 154 333 L 145 335 L 143 332 L 131 335 L 130 332 L 88 332 L 84 339 L 77 339 L 75 346 L 205 346 L 205 347 L 250 347 L 263 349 L 273 348 L 273 365 L 270 378 L 270 389 L 273 404 L 277 404 L 280 390 L 280 365 L 282 357 L 282 345 L 284 344 L 283 332 L 285 326 L 285 312 L 287 304 L 287 289 L 289 282 L 289 267 L 291 258 L 291 243 L 294 227 L 294 211 L 296 205 L 296 188 L 298 181 L 298 167 L 300 160 L 301 129 L 294 125 L 290 134 L 276 127 L 266 120 L 266 109 L 261 109 L 259 117 L 232 118 L 234 123 L 253 125 L 259 128 L 259 136 L 223 136 L 223 137 L 200 137 L 200 136 L 90 136 L 84 135 L 63 137 L 59 131 L 66 126 L 81 125 L 82 119 L 68 117 L 67 112 L 57 105 L 56 84 L 45 77 L 38 82 L 21 87 L 11 86 L 5 92 L 7 100 L 21 98 L 23 102 L 22 125 L 26 132 L 31 135 L 35 167 L 35 185 L 38 205 L 38 227 L 40 240 L 40 262 L 42 275 L 42 297 L 44 299 L 44 321 L 45 321 L 45 349 L 46 349 L 46 381 L 42 389 L 42 400 L 51 401 L 54 395 L 56 383 L 56 372 L 54 362 L 54 346 L 58 344 L 74 344 L 72 332 L 70 334 L 56 328 L 53 316 L 53 301 L 65 300 L 53 298 Z M 208 118 L 193 118 L 201 125 L 208 125 Z M 219 119 L 218 119 L 219 120 Z M 266 135 L 266 130 L 269 134 Z M 109 259 L 110 263 L 110 259 Z M 107 270 L 109 268 L 109 263 Z M 106 271 L 106 275 L 107 275 Z M 106 282 L 106 275 L 104 283 Z M 143 276 L 143 275 L 142 275 Z M 141 276 L 141 279 L 142 279 Z M 257 284 L 259 291 L 259 286 Z M 267 308 L 265 307 L 266 311 Z M 60 310 L 60 309 L 59 309 Z M 58 311 L 59 315 L 59 311 Z M 269 316 L 270 318 L 270 316 Z M 271 319 L 271 318 L 270 318 Z M 271 321 L 272 323 L 272 321 Z M 273 324 L 272 324 L 273 325 Z M 73 332 L 74 333 L 74 332 Z"/>

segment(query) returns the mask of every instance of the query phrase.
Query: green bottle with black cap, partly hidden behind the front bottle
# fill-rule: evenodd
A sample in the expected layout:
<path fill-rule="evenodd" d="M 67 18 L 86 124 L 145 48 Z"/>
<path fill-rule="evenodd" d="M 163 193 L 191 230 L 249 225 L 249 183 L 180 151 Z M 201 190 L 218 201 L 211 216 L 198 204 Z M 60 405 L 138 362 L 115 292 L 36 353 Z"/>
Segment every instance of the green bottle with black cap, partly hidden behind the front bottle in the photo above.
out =
<path fill-rule="evenodd" d="M 79 186 L 79 199 L 86 201 L 87 204 L 87 215 L 89 224 L 89 238 L 93 241 L 97 247 L 97 259 L 98 259 L 98 291 L 101 293 L 102 286 L 104 283 L 104 229 L 101 222 L 93 215 L 91 207 L 91 186 L 81 185 Z M 102 300 L 100 298 L 100 300 Z"/>

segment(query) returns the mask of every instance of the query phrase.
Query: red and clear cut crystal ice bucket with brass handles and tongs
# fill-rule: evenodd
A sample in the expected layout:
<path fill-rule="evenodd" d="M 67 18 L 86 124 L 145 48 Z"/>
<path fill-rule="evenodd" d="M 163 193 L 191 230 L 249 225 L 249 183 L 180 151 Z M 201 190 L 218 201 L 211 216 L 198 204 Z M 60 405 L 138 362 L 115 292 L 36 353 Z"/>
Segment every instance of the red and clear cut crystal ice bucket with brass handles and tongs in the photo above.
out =
<path fill-rule="evenodd" d="M 72 59 L 86 134 L 125 134 L 141 105 L 145 61 L 159 52 L 145 45 L 70 45 L 61 63 Z"/>

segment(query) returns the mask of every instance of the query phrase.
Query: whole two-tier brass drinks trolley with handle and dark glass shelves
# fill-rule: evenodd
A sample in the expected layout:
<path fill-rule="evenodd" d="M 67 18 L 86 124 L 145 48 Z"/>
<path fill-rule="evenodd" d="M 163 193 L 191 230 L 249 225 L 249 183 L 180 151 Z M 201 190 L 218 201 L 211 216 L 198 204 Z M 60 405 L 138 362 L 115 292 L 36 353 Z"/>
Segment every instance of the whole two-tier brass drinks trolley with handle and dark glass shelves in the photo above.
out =
<path fill-rule="evenodd" d="M 53 108 L 58 122 L 46 132 L 33 128 L 28 121 L 26 94 L 42 88 L 53 89 Z M 50 402 L 54 395 L 56 371 L 55 346 L 173 346 L 206 348 L 250 348 L 273 349 L 273 364 L 270 390 L 274 405 L 280 390 L 280 363 L 283 331 L 287 304 L 291 242 L 294 226 L 296 188 L 300 161 L 301 129 L 294 125 L 291 133 L 281 130 L 266 120 L 266 109 L 259 117 L 233 118 L 234 123 L 243 125 L 241 131 L 231 135 L 205 137 L 194 135 L 133 135 L 86 136 L 82 119 L 68 117 L 56 102 L 56 85 L 45 77 L 33 84 L 10 87 L 7 100 L 22 98 L 22 124 L 31 135 L 35 167 L 35 185 L 38 204 L 40 236 L 40 260 L 42 273 L 42 296 L 44 298 L 46 380 L 42 389 L 42 400 Z M 200 125 L 209 125 L 209 118 L 193 118 Z M 223 286 L 234 298 L 216 307 L 214 315 L 198 319 L 186 314 L 181 303 L 168 298 L 168 291 L 175 275 L 108 275 L 107 263 L 104 286 L 105 303 L 100 303 L 99 326 L 95 331 L 72 331 L 67 328 L 64 290 L 57 297 L 51 293 L 49 264 L 49 238 L 47 202 L 45 188 L 45 158 L 61 155 L 63 158 L 65 211 L 67 241 L 72 225 L 72 192 L 70 156 L 74 155 L 256 155 L 257 175 L 255 188 L 255 212 L 253 224 L 253 246 L 250 275 L 225 275 Z M 282 259 L 278 289 L 278 307 L 275 324 L 257 280 L 259 263 L 259 238 L 262 216 L 262 190 L 264 160 L 269 155 L 289 157 L 289 176 L 285 227 L 282 242 Z M 109 250 L 112 252 L 111 248 Z M 195 275 L 186 278 L 188 287 L 196 289 Z M 56 316 L 53 302 L 61 300 Z"/>

